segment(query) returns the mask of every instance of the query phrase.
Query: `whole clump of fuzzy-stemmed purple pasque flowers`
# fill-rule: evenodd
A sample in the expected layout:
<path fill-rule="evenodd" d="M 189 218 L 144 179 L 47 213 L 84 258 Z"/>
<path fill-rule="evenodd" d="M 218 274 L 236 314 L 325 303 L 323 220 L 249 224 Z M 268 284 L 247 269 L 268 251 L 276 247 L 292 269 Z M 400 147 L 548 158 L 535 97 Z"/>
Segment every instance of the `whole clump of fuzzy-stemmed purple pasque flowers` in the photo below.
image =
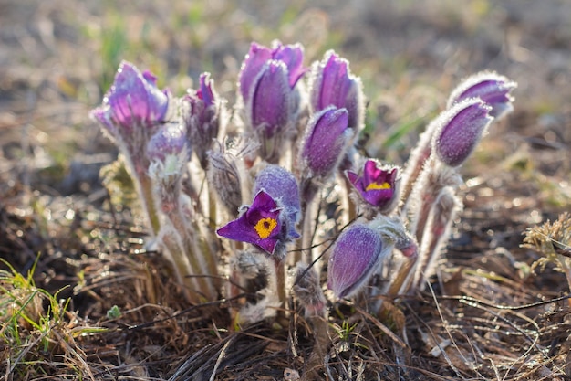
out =
<path fill-rule="evenodd" d="M 245 292 L 235 321 L 252 323 L 293 297 L 325 322 L 339 298 L 379 313 L 379 295 L 425 286 L 462 208 L 460 168 L 515 86 L 464 79 L 404 168 L 359 150 L 364 95 L 348 60 L 331 50 L 306 67 L 300 44 L 253 43 L 231 109 L 209 73 L 179 98 L 122 62 L 92 116 L 189 302 Z"/>

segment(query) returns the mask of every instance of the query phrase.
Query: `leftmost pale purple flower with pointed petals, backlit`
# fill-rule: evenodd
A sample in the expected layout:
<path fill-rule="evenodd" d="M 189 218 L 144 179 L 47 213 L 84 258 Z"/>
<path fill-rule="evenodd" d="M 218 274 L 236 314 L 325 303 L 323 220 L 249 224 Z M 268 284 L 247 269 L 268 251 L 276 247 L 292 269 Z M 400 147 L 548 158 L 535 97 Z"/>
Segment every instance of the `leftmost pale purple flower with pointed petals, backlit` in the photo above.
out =
<path fill-rule="evenodd" d="M 157 88 L 151 72 L 140 72 L 133 64 L 122 61 L 113 85 L 101 106 L 91 115 L 113 138 L 129 140 L 140 127 L 154 127 L 166 119 L 170 94 Z"/>

